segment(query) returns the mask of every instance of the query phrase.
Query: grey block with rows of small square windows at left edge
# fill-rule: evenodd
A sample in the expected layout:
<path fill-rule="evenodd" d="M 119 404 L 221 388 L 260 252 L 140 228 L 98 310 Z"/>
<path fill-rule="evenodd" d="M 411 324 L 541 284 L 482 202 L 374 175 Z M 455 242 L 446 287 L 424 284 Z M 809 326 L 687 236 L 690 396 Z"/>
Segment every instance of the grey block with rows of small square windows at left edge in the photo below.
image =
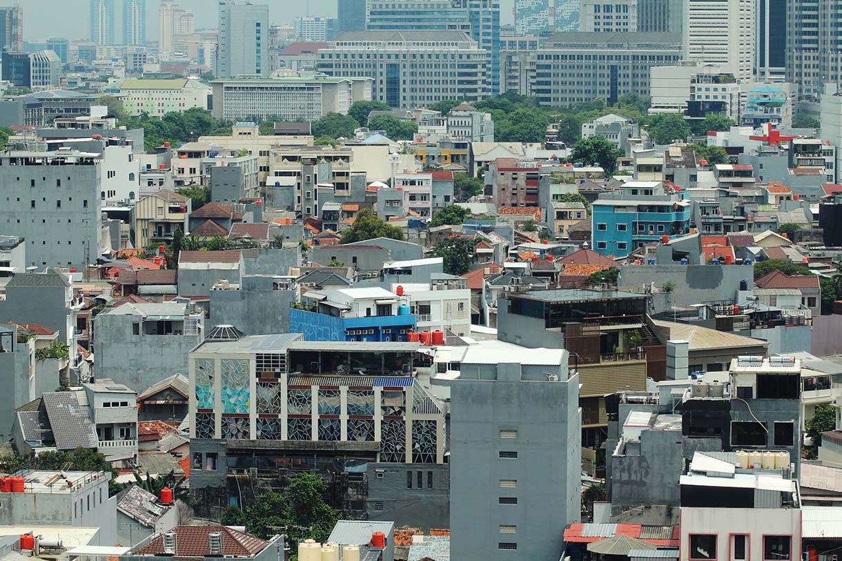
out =
<path fill-rule="evenodd" d="M 100 254 L 101 185 L 97 154 L 3 152 L 0 234 L 26 240 L 28 266 L 83 270 Z"/>

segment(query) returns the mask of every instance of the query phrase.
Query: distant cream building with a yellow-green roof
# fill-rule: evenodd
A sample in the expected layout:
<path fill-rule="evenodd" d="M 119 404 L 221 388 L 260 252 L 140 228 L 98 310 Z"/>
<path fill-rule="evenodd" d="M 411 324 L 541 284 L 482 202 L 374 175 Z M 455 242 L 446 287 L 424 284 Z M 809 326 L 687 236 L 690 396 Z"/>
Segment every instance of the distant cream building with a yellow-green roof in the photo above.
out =
<path fill-rule="evenodd" d="M 146 113 L 163 117 L 170 112 L 209 107 L 210 88 L 196 78 L 124 80 L 120 84 L 123 109 L 128 115 Z"/>

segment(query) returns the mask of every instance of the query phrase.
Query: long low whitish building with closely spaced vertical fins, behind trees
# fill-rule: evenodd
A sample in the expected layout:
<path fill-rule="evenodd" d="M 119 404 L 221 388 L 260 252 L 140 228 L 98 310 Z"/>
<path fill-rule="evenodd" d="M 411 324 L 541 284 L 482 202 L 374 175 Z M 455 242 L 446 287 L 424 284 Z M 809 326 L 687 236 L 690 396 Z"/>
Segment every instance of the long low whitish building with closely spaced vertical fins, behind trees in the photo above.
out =
<path fill-rule="evenodd" d="M 372 79 L 356 76 L 309 72 L 289 77 L 216 80 L 212 83 L 213 114 L 224 120 L 274 117 L 289 121 L 317 120 L 328 113 L 346 114 L 354 102 L 371 99 Z"/>

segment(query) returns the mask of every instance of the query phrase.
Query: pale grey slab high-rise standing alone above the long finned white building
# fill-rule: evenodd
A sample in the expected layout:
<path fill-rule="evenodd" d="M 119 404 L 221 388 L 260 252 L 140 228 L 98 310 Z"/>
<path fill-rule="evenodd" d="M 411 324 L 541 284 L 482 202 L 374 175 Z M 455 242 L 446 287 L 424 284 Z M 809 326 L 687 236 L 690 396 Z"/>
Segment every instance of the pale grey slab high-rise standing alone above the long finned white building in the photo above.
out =
<path fill-rule="evenodd" d="M 269 6 L 220 1 L 216 76 L 269 76 Z"/>

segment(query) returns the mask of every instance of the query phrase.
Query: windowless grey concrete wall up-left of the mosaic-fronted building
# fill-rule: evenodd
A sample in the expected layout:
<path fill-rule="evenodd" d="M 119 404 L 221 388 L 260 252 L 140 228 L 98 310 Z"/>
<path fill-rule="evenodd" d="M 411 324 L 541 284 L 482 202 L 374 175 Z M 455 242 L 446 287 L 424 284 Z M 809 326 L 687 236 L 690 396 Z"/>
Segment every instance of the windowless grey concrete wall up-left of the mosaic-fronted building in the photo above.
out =
<path fill-rule="evenodd" d="M 100 313 L 93 319 L 97 337 L 97 377 L 109 377 L 142 392 L 173 374 L 188 376 L 187 355 L 204 335 L 134 335 L 140 316 Z"/>

